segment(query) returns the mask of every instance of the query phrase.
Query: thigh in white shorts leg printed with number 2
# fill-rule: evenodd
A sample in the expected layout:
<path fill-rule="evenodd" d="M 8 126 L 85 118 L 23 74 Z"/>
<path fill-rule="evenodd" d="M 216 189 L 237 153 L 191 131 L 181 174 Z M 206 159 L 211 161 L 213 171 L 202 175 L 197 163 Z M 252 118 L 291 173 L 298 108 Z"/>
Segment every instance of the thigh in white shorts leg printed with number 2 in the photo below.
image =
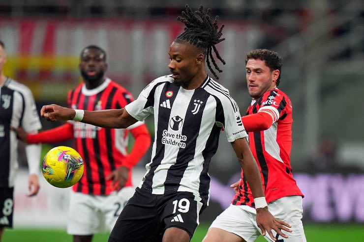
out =
<path fill-rule="evenodd" d="M 135 189 L 132 187 L 122 188 L 119 192 L 113 192 L 105 200 L 102 210 L 105 211 L 105 222 L 109 231 L 114 225 L 125 207 L 127 201 L 133 196 Z"/>

